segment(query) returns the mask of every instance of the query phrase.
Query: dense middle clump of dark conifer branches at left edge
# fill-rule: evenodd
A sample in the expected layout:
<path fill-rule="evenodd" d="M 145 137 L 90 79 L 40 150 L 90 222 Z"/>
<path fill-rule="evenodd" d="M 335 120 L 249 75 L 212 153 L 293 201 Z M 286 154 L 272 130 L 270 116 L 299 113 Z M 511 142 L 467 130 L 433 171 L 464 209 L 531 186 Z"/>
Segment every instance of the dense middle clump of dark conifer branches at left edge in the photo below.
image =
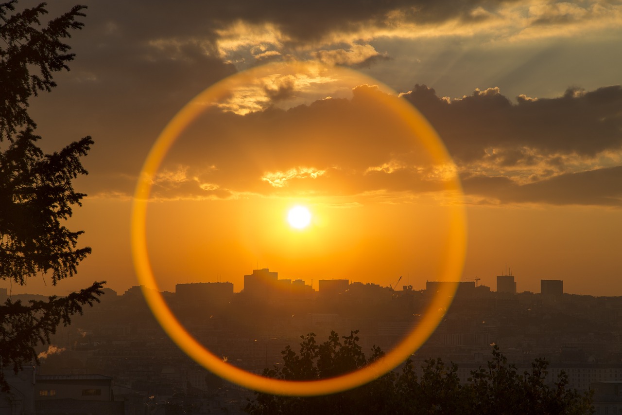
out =
<path fill-rule="evenodd" d="M 59 153 L 44 155 L 38 136 L 27 128 L 0 152 L 0 278 L 24 284 L 28 277 L 52 271 L 52 284 L 72 277 L 91 249 L 75 249 L 81 231 L 72 232 L 63 220 L 85 196 L 73 191 L 72 179 L 86 174 L 80 156 L 90 137 Z"/>

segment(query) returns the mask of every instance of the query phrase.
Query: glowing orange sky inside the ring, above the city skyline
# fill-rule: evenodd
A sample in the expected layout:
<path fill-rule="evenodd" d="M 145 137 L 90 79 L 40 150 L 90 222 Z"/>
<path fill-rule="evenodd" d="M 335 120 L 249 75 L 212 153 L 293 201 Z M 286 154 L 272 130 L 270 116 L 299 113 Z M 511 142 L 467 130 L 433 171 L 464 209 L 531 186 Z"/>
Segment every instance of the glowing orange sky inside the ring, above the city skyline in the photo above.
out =
<path fill-rule="evenodd" d="M 230 278 L 234 269 L 241 289 L 251 264 L 309 284 L 388 285 L 404 272 L 459 279 L 445 271 L 464 255 L 448 251 L 464 239 L 457 170 L 424 118 L 371 81 L 323 65 L 272 64 L 189 103 L 170 126 L 192 114 L 189 122 L 163 133 L 154 149 L 171 136 L 168 151 L 154 150 L 161 163 L 143 173 L 160 287 L 205 269 Z M 286 221 L 296 205 L 312 212 L 303 230 Z M 462 219 L 456 229 L 453 216 Z"/>

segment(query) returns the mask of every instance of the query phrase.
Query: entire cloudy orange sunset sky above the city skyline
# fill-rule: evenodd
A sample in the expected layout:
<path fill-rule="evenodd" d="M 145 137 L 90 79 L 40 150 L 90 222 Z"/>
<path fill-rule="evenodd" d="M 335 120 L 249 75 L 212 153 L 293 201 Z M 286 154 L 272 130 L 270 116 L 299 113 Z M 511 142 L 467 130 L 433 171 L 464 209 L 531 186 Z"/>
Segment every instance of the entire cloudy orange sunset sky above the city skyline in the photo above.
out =
<path fill-rule="evenodd" d="M 462 279 L 496 290 L 507 264 L 519 292 L 561 279 L 622 295 L 622 2 L 81 2 L 71 71 L 30 114 L 45 151 L 95 140 L 69 223 L 93 254 L 72 280 L 13 293 L 137 285 L 130 214 L 149 151 L 194 97 L 251 70 L 200 103 L 151 178 L 160 289 L 239 291 L 256 267 L 316 289 L 400 275 L 424 289 L 452 255 L 459 178 Z M 53 1 L 50 16 L 73 4 Z M 290 60 L 323 69 L 279 66 Z M 409 136 L 384 96 L 414 105 L 451 158 Z M 304 229 L 287 224 L 299 204 Z"/>

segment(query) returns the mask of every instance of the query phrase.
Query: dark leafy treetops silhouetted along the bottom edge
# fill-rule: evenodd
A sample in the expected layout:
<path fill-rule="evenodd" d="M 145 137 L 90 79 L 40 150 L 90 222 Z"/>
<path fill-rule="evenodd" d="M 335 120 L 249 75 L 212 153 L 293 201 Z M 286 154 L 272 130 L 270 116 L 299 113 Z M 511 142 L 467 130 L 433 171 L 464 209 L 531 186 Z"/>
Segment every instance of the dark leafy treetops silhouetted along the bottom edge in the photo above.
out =
<path fill-rule="evenodd" d="M 283 364 L 264 370 L 264 376 L 287 380 L 321 379 L 356 370 L 383 356 L 373 348 L 366 359 L 356 332 L 343 342 L 332 332 L 317 345 L 315 334 L 301 336 L 300 353 L 289 346 L 282 351 Z M 519 374 L 516 366 L 493 346 L 493 359 L 485 368 L 471 372 L 461 383 L 458 366 L 440 359 L 426 360 L 420 374 L 412 360 L 401 370 L 385 374 L 360 388 L 329 396 L 288 397 L 256 393 L 249 401 L 250 414 L 591 414 L 592 395 L 567 388 L 567 376 L 559 375 L 554 385 L 545 382 L 548 363 L 536 359 L 531 372 Z"/>

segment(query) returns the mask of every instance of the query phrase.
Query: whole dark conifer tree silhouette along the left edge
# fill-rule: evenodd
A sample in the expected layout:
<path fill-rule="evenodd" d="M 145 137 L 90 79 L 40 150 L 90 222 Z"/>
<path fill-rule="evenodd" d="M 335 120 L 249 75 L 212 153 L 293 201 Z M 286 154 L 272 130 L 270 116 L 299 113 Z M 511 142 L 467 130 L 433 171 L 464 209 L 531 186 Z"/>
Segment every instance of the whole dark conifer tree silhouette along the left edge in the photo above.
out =
<path fill-rule="evenodd" d="M 81 231 L 72 232 L 63 222 L 80 206 L 85 194 L 73 190 L 72 181 L 87 174 L 80 158 L 93 145 L 90 136 L 62 150 L 45 154 L 34 134 L 37 125 L 28 113 L 29 99 L 50 92 L 53 72 L 68 70 L 69 45 L 62 39 L 81 29 L 84 6 L 50 20 L 45 3 L 9 15 L 17 0 L 0 4 L 0 279 L 24 285 L 29 277 L 51 273 L 52 285 L 72 277 L 89 247 L 77 248 Z M 31 72 L 32 71 L 32 72 Z M 4 368 L 37 360 L 35 347 L 50 343 L 60 324 L 68 325 L 83 305 L 99 302 L 105 282 L 66 297 L 49 297 L 29 305 L 0 305 L 0 385 L 8 390 Z"/>

